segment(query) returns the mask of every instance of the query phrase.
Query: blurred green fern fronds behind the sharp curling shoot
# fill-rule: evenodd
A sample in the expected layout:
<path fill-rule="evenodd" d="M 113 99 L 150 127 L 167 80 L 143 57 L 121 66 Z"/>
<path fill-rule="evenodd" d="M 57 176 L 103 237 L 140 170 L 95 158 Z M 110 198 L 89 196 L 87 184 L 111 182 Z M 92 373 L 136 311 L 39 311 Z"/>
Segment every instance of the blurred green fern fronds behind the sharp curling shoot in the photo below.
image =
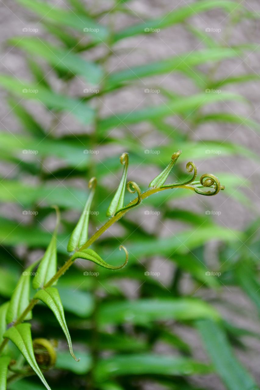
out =
<path fill-rule="evenodd" d="M 186 158 L 187 161 L 216 158 L 220 153 L 259 162 L 259 156 L 244 145 L 222 139 L 196 141 L 193 137 L 200 124 L 211 122 L 259 131 L 258 123 L 227 105 L 226 111 L 216 111 L 217 103 L 223 101 L 248 105 L 245 97 L 229 92 L 227 87 L 257 81 L 259 75 L 224 75 L 222 79 L 215 76 L 217 67 L 225 60 L 244 58 L 258 45 L 229 46 L 190 23 L 195 14 L 216 9 L 221 9 L 227 18 L 228 28 L 244 19 L 253 21 L 257 15 L 242 4 L 225 0 L 196 1 L 153 20 L 115 28 L 120 15 L 136 17 L 128 6 L 130 1 L 116 1 L 101 12 L 89 9 L 80 0 L 67 0 L 64 7 L 35 0 L 18 0 L 18 3 L 28 15 L 34 15 L 45 33 L 44 38 L 23 34 L 9 40 L 11 47 L 15 46 L 26 58 L 30 80 L 18 80 L 14 74 L 0 76 L 0 85 L 8 92 L 10 110 L 23 128 L 18 133 L 10 129 L 0 136 L 1 160 L 11 171 L 7 176 L 1 174 L 0 200 L 15 210 L 14 215 L 9 213 L 9 217 L 0 218 L 2 303 L 11 298 L 20 274 L 35 251 L 46 250 L 53 231 L 49 227 L 53 204 L 61 209 L 57 249 L 58 265 L 64 264 L 69 235 L 87 199 L 85 183 L 92 176 L 97 178 L 98 184 L 93 200 L 96 213 L 89 218 L 91 232 L 105 223 L 106 210 L 120 180 L 118 151 L 129 153 L 133 167 L 130 177 L 142 190 L 155 176 L 150 177 L 151 167 L 157 174 L 178 149 L 183 150 L 184 162 Z M 128 66 L 123 61 L 121 70 L 111 69 L 111 58 L 123 50 L 121 42 L 135 35 L 135 39 L 141 40 L 147 34 L 156 33 L 156 29 L 169 28 L 170 31 L 179 23 L 198 43 L 203 41 L 202 50 L 195 48 L 190 53 L 136 66 Z M 207 72 L 205 68 L 201 70 L 202 65 L 207 66 Z M 191 81 L 196 93 L 180 95 L 153 82 L 155 75 L 173 72 Z M 73 85 L 78 81 L 82 88 Z M 161 97 L 155 104 L 134 110 L 118 112 L 115 108 L 115 112 L 103 112 L 110 97 L 121 100 L 116 94 L 134 86 L 142 91 L 146 87 L 160 89 Z M 221 93 L 212 92 L 220 88 Z M 46 120 L 37 115 L 38 106 L 45 111 L 42 116 Z M 178 126 L 168 120 L 175 117 L 180 119 Z M 154 140 L 153 147 L 146 145 L 144 137 L 137 136 L 135 125 L 143 123 L 147 124 L 147 133 Z M 57 131 L 60 124 L 65 129 L 63 133 Z M 184 125 L 188 131 L 183 130 Z M 167 142 L 158 146 L 158 135 Z M 219 154 L 207 153 L 212 150 Z M 226 172 L 217 173 L 221 183 L 226 185 L 221 195 L 223 199 L 232 197 L 250 209 L 251 202 L 243 191 L 247 185 L 245 179 Z M 174 181 L 187 175 L 179 161 L 174 174 Z M 94 243 L 94 250 L 116 266 L 122 260 L 117 248 L 124 244 L 129 252 L 129 262 L 124 269 L 85 268 L 85 263 L 80 261 L 59 279 L 57 288 L 74 352 L 81 358 L 80 362 L 71 358 L 53 313 L 41 303 L 36 305 L 33 336 L 60 341 L 55 367 L 45 374 L 52 390 L 134 390 L 144 388 L 146 381 L 152 381 L 158 388 L 202 390 L 206 387 L 198 388 L 192 378 L 209 373 L 217 374 L 228 390 L 258 388 L 233 347 L 246 348 L 242 337 L 259 339 L 259 334 L 226 321 L 209 296 L 214 296 L 224 306 L 221 289 L 236 286 L 247 294 L 259 312 L 259 221 L 244 232 L 220 226 L 212 215 L 205 214 L 212 207 L 205 199 L 201 211 L 190 211 L 194 198 L 193 192 L 181 189 L 158 193 L 145 200 L 139 213 L 134 211 L 134 217 L 129 213 L 120 219 L 118 230 L 111 230 L 110 235 Z M 187 199 L 187 207 L 173 208 L 173 201 L 181 199 Z M 150 213 L 154 210 L 162 223 L 151 232 L 142 225 L 147 210 Z M 167 237 L 162 237 L 161 227 L 169 220 L 181 227 L 174 234 L 169 232 Z M 214 254 L 215 269 L 210 268 L 212 262 L 207 255 L 208 243 L 212 240 L 219 241 Z M 155 257 L 173 264 L 170 282 L 156 275 L 153 277 L 150 262 Z M 89 271 L 98 272 L 98 277 L 84 275 Z M 188 293 L 182 289 L 185 275 L 189 275 Z M 131 299 L 126 289 L 129 282 L 135 290 Z M 198 290 L 201 298 L 194 297 Z M 33 296 L 32 291 L 30 295 Z M 239 305 L 232 310 L 239 310 Z M 0 311 L 4 318 L 6 306 L 1 306 Z M 207 363 L 194 358 L 192 343 L 189 345 L 178 334 L 180 324 L 201 337 L 201 345 L 208 354 Z M 5 321 L 1 321 L 0 329 L 4 332 Z M 164 353 L 158 353 L 160 344 L 165 346 Z M 12 346 L 9 348 L 17 354 Z M 5 357 L 1 359 L 4 359 L 0 360 L 2 380 L 9 362 Z M 19 380 L 10 380 L 7 388 L 11 390 L 43 390 L 36 377 L 12 379 Z M 5 384 L 0 382 L 0 388 L 4 389 Z"/>

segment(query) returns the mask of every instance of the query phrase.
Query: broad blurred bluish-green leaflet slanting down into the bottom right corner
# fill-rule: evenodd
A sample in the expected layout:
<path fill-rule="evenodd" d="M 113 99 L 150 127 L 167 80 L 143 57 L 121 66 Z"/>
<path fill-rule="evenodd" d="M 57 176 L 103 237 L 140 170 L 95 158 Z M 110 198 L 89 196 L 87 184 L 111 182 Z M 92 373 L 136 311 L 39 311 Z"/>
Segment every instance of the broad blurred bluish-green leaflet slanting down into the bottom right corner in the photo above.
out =
<path fill-rule="evenodd" d="M 221 325 L 210 319 L 197 321 L 197 327 L 215 369 L 229 390 L 257 390 L 251 376 L 233 355 Z"/>

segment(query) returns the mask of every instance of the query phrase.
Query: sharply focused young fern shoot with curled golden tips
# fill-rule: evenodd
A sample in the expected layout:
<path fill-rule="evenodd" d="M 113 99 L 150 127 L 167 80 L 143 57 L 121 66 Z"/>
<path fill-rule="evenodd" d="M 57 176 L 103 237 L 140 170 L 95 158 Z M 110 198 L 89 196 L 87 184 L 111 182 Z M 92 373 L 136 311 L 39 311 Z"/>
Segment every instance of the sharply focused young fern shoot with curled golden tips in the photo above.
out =
<path fill-rule="evenodd" d="M 57 321 L 62 328 L 62 331 L 65 334 L 71 356 L 76 361 L 78 361 L 72 350 L 71 337 L 69 335 L 68 326 L 66 324 L 64 309 L 62 306 L 61 298 L 59 296 L 59 291 L 57 288 L 52 286 L 59 280 L 59 278 L 64 274 L 64 272 L 68 270 L 68 268 L 73 264 L 76 259 L 88 260 L 98 264 L 103 268 L 111 270 L 121 269 L 127 264 L 128 252 L 123 245 L 119 246 L 119 250 L 123 249 L 123 251 L 125 252 L 125 262 L 119 266 L 114 266 L 107 263 L 100 257 L 100 255 L 94 252 L 93 249 L 89 248 L 89 246 L 91 246 L 111 225 L 118 221 L 119 218 L 125 215 L 125 213 L 128 212 L 130 209 L 138 206 L 138 204 L 140 204 L 142 200 L 148 198 L 154 193 L 157 193 L 158 191 L 163 191 L 170 188 L 186 188 L 200 195 L 211 196 L 216 195 L 220 190 L 224 190 L 224 186 L 221 186 L 219 179 L 212 174 L 206 173 L 201 176 L 199 181 L 195 181 L 197 176 L 197 168 L 193 162 L 188 162 L 186 165 L 187 173 L 193 172 L 193 176 L 191 178 L 187 179 L 187 181 L 183 183 L 165 184 L 180 154 L 181 151 L 177 151 L 172 155 L 171 161 L 169 162 L 167 167 L 157 177 L 155 177 L 155 179 L 151 181 L 149 185 L 150 188 L 142 193 L 139 186 L 134 181 L 129 181 L 127 183 L 129 156 L 128 153 L 123 153 L 120 157 L 120 162 L 122 165 L 124 165 L 122 178 L 107 210 L 107 216 L 109 216 L 110 219 L 99 230 L 97 230 L 91 238 L 88 239 L 89 215 L 96 189 L 96 178 L 93 177 L 89 181 L 90 193 L 89 197 L 87 198 L 84 210 L 69 238 L 68 252 L 74 253 L 58 270 L 56 241 L 60 217 L 59 211 L 56 208 L 57 222 L 55 230 L 53 232 L 53 237 L 43 258 L 40 261 L 40 264 L 37 269 L 37 275 L 32 282 L 32 287 L 34 289 L 37 289 L 34 298 L 31 301 L 29 300 L 30 274 L 32 273 L 32 269 L 37 265 L 38 262 L 29 266 L 27 270 L 23 272 L 23 275 L 21 276 L 18 285 L 11 296 L 10 302 L 4 303 L 4 305 L 0 306 L 0 341 L 2 340 L 2 344 L 0 345 L 0 352 L 3 353 L 4 351 L 4 355 L 0 356 L 1 390 L 6 388 L 6 378 L 12 372 L 12 367 L 9 362 L 11 359 L 13 362 L 13 356 L 12 349 L 8 349 L 7 347 L 8 340 L 11 340 L 16 345 L 16 347 L 20 350 L 21 354 L 24 356 L 25 360 L 28 363 L 28 366 L 21 367 L 21 375 L 22 372 L 25 372 L 25 375 L 28 375 L 28 369 L 33 370 L 31 372 L 35 372 L 39 376 L 45 387 L 50 390 L 50 387 L 46 383 L 46 380 L 43 376 L 41 368 L 38 365 L 37 359 L 34 356 L 34 345 L 37 345 L 37 343 L 34 344 L 32 340 L 30 324 L 23 323 L 24 320 L 32 318 L 32 308 L 39 300 L 45 303 L 45 305 L 50 308 L 50 310 L 52 310 L 53 314 L 55 315 Z M 205 188 L 207 190 L 205 190 Z M 137 197 L 129 204 L 124 206 L 126 189 L 130 193 L 137 193 Z M 46 340 L 46 342 L 47 341 L 48 340 Z M 38 356 L 38 354 L 36 354 L 36 356 Z M 52 362 L 55 361 L 53 356 L 50 360 Z"/>

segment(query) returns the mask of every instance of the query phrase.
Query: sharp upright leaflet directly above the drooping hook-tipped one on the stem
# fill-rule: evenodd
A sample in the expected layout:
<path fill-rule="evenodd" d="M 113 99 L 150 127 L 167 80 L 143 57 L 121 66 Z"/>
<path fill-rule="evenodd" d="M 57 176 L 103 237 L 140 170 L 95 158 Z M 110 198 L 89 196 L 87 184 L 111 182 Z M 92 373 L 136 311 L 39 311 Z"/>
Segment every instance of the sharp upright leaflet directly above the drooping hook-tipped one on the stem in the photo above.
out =
<path fill-rule="evenodd" d="M 50 244 L 41 259 L 39 267 L 37 268 L 37 273 L 32 281 L 32 287 L 34 289 L 43 287 L 57 272 L 57 230 L 60 222 L 60 213 L 57 207 L 55 207 L 55 210 L 57 214 L 56 227 Z"/>

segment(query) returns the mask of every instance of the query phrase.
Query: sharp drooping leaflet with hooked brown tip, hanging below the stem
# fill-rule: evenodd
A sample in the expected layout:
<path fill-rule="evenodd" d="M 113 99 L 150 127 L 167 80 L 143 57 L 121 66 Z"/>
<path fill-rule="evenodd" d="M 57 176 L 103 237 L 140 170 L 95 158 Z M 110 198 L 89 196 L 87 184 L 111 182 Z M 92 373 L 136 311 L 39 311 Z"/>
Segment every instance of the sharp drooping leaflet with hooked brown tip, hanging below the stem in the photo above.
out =
<path fill-rule="evenodd" d="M 69 345 L 69 352 L 71 356 L 78 362 L 78 359 L 73 353 L 71 338 L 66 324 L 64 310 L 62 307 L 61 298 L 59 296 L 59 291 L 55 287 L 48 287 L 47 289 L 37 291 L 37 293 L 34 296 L 34 299 L 41 300 L 43 303 L 45 303 L 45 305 L 47 305 L 50 308 L 50 310 L 52 310 L 53 314 L 57 318 L 66 336 Z"/>

